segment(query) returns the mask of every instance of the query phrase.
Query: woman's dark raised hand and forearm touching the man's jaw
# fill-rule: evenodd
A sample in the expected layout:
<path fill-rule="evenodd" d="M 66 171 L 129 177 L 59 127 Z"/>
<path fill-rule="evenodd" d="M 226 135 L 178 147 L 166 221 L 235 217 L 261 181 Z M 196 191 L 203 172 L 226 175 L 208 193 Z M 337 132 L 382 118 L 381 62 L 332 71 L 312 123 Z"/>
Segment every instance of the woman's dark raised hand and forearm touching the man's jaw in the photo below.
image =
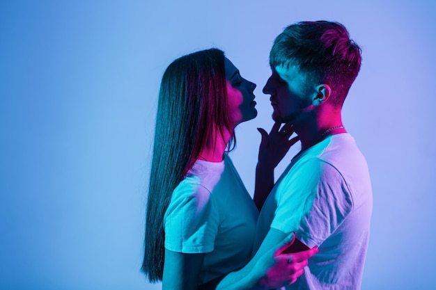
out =
<path fill-rule="evenodd" d="M 256 184 L 254 188 L 254 203 L 260 211 L 263 203 L 270 194 L 274 186 L 274 168 L 279 164 L 281 159 L 288 153 L 290 146 L 297 143 L 298 136 L 290 138 L 294 133 L 290 124 L 276 122 L 267 134 L 262 128 L 258 128 L 262 140 L 260 141 L 258 164 L 256 166 Z"/>

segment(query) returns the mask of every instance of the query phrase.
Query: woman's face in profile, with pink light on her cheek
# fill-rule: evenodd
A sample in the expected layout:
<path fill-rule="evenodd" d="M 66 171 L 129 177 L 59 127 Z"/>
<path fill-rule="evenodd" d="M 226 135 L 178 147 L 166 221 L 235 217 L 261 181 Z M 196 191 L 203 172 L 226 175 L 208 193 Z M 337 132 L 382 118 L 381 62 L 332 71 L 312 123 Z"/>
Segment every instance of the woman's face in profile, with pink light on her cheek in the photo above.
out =
<path fill-rule="evenodd" d="M 235 65 L 225 58 L 226 87 L 228 106 L 235 125 L 256 118 L 257 110 L 254 102 L 256 83 L 244 79 Z"/>

